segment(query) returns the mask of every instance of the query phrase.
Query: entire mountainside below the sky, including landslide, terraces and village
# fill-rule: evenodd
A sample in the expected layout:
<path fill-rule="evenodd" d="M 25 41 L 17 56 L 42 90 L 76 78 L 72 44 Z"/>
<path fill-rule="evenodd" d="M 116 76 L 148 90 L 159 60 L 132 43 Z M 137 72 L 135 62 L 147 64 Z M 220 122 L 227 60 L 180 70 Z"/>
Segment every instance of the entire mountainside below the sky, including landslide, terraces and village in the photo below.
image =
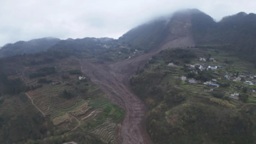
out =
<path fill-rule="evenodd" d="M 253 15 L 181 10 L 118 40 L 4 46 L 0 143 L 255 143 Z"/>

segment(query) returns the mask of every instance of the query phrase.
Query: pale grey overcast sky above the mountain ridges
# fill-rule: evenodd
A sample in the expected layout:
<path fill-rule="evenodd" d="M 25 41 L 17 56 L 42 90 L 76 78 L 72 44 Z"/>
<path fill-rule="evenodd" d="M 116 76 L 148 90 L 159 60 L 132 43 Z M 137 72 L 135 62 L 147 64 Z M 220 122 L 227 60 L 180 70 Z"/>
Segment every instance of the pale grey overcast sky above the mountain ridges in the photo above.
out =
<path fill-rule="evenodd" d="M 198 8 L 216 20 L 256 13 L 255 0 L 0 0 L 0 46 L 46 36 L 118 38 L 154 17 Z"/>

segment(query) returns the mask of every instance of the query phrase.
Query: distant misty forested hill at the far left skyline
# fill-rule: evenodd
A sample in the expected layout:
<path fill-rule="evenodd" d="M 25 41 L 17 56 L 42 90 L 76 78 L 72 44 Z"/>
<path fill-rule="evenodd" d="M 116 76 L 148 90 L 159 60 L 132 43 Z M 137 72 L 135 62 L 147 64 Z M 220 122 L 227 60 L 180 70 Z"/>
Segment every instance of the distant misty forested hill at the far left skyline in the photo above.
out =
<path fill-rule="evenodd" d="M 59 38 L 48 37 L 33 39 L 28 42 L 19 41 L 14 44 L 6 44 L 0 49 L 0 57 L 46 51 L 58 42 L 60 42 Z"/>

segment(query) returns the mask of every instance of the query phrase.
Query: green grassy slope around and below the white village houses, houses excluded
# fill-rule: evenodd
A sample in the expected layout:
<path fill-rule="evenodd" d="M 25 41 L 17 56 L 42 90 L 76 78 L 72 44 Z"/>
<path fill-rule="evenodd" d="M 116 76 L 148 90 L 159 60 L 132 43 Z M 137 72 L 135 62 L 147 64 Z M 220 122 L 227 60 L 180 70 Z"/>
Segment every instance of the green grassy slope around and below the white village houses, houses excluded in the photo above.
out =
<path fill-rule="evenodd" d="M 171 50 L 167 50 L 171 51 Z M 141 99 L 148 104 L 147 129 L 155 143 L 255 143 L 255 98 L 249 94 L 246 103 L 228 97 L 230 92 L 242 90 L 234 85 L 255 88 L 242 82 L 223 79 L 223 76 L 234 72 L 255 74 L 253 63 L 240 60 L 232 52 L 214 52 L 214 49 L 192 49 L 196 56 L 205 58 L 211 53 L 216 62 L 205 64 L 225 65 L 225 68 L 208 71 L 213 78 L 221 83 L 230 83 L 228 87 L 214 88 L 214 92 L 223 92 L 225 97 L 217 99 L 211 93 L 205 92 L 211 87 L 203 84 L 187 84 L 177 82 L 179 76 L 186 76 L 183 59 L 175 56 L 165 57 L 159 54 L 154 63 L 146 65 L 131 79 L 132 88 Z M 168 52 L 163 52 L 168 53 Z M 170 60 L 170 59 L 172 60 Z M 233 61 L 227 65 L 224 60 Z M 164 61 L 179 61 L 178 67 L 166 67 Z M 197 58 L 191 58 L 191 63 L 202 63 Z M 234 68 L 233 68 L 234 67 Z"/>

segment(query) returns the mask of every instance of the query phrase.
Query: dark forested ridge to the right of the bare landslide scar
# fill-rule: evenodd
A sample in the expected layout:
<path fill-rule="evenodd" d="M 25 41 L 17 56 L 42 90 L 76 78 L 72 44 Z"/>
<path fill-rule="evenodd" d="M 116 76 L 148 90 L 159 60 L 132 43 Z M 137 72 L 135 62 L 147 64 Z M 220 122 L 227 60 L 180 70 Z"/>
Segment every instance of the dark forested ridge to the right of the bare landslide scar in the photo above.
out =
<path fill-rule="evenodd" d="M 223 17 L 220 22 L 205 13 L 195 13 L 191 18 L 197 44 L 233 44 L 236 50 L 254 53 L 256 14 L 240 12 Z"/>

